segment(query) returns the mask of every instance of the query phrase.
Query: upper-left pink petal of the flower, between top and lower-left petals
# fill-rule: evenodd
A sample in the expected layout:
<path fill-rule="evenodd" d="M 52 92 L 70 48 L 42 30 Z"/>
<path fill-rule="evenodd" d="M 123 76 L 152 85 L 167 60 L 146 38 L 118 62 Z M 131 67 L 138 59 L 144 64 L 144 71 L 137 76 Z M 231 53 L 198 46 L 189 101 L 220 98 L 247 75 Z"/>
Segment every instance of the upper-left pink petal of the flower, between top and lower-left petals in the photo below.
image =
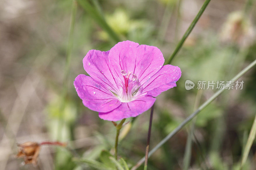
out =
<path fill-rule="evenodd" d="M 109 68 L 109 51 L 90 50 L 84 57 L 84 70 L 108 89 L 116 90 L 116 81 Z"/>

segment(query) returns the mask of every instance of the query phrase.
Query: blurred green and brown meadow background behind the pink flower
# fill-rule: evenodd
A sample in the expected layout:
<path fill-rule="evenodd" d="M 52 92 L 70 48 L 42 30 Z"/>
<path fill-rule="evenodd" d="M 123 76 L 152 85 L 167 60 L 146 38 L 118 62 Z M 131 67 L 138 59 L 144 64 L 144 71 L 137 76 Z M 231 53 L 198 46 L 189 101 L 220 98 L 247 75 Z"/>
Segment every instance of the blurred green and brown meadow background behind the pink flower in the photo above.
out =
<path fill-rule="evenodd" d="M 120 40 L 156 46 L 167 59 L 204 1 L 87 2 Z M 86 74 L 82 60 L 90 49 L 107 51 L 116 41 L 92 13 L 78 4 L 70 70 L 65 78 L 71 8 L 71 0 L 1 1 L 0 169 L 93 169 L 72 157 L 104 162 L 104 154 L 114 152 L 115 127 L 83 106 L 73 81 L 78 74 Z M 256 58 L 255 24 L 254 0 L 210 2 L 172 61 L 182 71 L 177 87 L 157 97 L 150 148 L 217 91 L 198 91 L 196 86 L 186 90 L 186 80 L 230 80 Z M 183 169 L 193 126 L 189 169 L 238 169 L 256 114 L 256 68 L 239 80 L 244 81 L 242 90 L 227 90 L 207 106 L 149 158 L 148 169 Z M 130 167 L 145 155 L 148 120 L 149 111 L 121 132 L 119 155 Z M 16 142 L 46 140 L 68 142 L 73 152 L 43 146 L 38 166 L 20 166 L 22 160 L 13 156 Z M 254 142 L 244 169 L 256 169 L 255 152 Z"/>

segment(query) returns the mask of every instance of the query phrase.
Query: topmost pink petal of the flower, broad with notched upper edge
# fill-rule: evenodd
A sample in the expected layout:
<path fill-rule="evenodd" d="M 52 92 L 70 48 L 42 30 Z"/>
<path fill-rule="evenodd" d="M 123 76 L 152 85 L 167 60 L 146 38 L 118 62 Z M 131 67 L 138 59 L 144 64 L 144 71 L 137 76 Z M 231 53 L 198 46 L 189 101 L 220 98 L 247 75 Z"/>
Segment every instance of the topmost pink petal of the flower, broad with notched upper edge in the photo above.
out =
<path fill-rule="evenodd" d="M 122 70 L 129 71 L 137 76 L 143 84 L 152 77 L 164 64 L 162 52 L 148 45 L 139 45 L 132 41 L 118 42 L 109 51 L 109 62 L 115 77 L 123 80 L 120 74 Z"/>

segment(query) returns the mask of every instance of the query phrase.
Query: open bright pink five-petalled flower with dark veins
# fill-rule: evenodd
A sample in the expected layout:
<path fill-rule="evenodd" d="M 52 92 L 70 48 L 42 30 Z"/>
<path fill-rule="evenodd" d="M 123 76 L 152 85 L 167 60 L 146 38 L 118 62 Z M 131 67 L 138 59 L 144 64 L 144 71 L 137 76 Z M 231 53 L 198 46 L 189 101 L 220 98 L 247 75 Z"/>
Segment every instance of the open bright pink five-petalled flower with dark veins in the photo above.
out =
<path fill-rule="evenodd" d="M 147 111 L 156 96 L 176 86 L 180 68 L 164 65 L 161 51 L 132 41 L 117 43 L 109 51 L 90 50 L 84 70 L 74 85 L 84 106 L 101 119 L 118 121 Z"/>

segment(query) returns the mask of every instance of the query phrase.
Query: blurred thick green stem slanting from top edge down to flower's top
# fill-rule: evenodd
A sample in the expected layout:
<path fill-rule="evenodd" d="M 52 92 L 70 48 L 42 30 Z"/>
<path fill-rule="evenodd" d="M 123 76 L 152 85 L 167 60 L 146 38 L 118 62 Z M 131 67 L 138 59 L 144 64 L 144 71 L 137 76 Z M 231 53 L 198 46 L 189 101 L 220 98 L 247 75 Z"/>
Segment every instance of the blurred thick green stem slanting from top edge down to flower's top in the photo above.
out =
<path fill-rule="evenodd" d="M 77 0 L 82 8 L 98 23 L 98 25 L 104 29 L 113 41 L 121 41 L 118 35 L 113 31 L 113 29 L 108 25 L 105 18 L 99 10 L 95 9 L 87 0 Z"/>

